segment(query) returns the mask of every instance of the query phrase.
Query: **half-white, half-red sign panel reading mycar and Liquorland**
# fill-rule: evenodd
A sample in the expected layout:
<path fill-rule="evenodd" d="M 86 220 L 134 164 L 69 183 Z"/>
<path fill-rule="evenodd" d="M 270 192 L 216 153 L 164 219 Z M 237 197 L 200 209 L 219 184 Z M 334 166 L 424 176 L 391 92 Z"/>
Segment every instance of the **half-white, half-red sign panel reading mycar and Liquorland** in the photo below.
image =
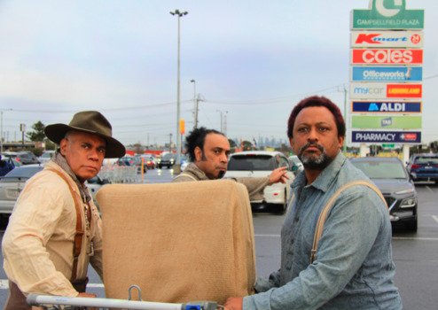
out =
<path fill-rule="evenodd" d="M 421 97 L 421 84 L 350 83 L 350 98 L 352 99 Z"/>

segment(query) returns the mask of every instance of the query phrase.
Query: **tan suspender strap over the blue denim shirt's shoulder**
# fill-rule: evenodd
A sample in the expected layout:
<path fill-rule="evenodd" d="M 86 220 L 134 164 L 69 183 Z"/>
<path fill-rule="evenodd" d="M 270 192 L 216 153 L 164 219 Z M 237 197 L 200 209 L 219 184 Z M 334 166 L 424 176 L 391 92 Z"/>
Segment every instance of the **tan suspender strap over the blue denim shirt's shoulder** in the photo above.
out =
<path fill-rule="evenodd" d="M 332 198 L 330 198 L 330 200 L 325 204 L 321 214 L 319 214 L 319 219 L 317 221 L 317 229 L 315 229 L 315 236 L 313 238 L 313 247 L 312 247 L 312 251 L 310 252 L 310 264 L 313 263 L 313 261 L 317 257 L 317 243 L 318 243 L 319 239 L 321 238 L 321 236 L 323 235 L 324 223 L 325 223 L 325 220 L 327 219 L 327 215 L 332 207 L 334 200 L 336 198 L 338 198 L 338 196 L 340 195 L 340 193 L 343 190 L 347 190 L 349 187 L 352 187 L 355 185 L 368 186 L 370 189 L 374 190 L 379 195 L 379 197 L 383 200 L 385 205 L 387 205 L 387 202 L 386 202 L 385 198 L 383 197 L 383 195 L 381 194 L 380 190 L 374 184 L 372 184 L 370 182 L 354 181 L 354 182 L 349 182 L 349 183 L 345 184 L 344 186 L 342 186 L 338 191 L 336 191 L 334 193 Z"/>

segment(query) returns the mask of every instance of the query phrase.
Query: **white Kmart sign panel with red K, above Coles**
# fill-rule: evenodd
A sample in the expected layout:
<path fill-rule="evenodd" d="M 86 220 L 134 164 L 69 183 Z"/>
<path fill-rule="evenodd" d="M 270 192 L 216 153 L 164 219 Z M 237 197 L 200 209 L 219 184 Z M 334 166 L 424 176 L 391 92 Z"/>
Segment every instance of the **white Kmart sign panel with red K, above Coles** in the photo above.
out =
<path fill-rule="evenodd" d="M 352 31 L 352 47 L 423 47 L 424 34 L 418 31 Z"/>

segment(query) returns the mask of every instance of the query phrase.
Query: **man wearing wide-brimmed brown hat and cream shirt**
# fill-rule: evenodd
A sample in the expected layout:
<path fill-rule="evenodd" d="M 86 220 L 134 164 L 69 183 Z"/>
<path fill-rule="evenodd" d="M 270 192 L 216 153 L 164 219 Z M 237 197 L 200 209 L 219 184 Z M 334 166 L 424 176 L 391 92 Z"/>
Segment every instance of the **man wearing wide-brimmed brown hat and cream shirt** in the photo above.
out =
<path fill-rule="evenodd" d="M 85 292 L 89 262 L 102 278 L 101 220 L 85 181 L 98 174 L 104 158 L 122 157 L 125 148 L 95 111 L 44 132 L 59 150 L 27 181 L 4 232 L 6 310 L 31 309 L 25 300 L 31 292 L 96 297 Z"/>

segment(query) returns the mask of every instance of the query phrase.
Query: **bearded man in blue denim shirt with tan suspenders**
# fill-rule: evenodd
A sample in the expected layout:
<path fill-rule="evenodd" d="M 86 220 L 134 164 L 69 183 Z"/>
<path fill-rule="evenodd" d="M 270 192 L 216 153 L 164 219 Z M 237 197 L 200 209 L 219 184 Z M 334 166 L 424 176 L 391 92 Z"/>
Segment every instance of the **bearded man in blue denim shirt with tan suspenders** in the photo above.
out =
<path fill-rule="evenodd" d="M 310 261 L 324 206 L 350 182 L 371 182 L 341 153 L 345 122 L 337 105 L 309 97 L 293 108 L 287 136 L 304 166 L 281 230 L 281 267 L 259 278 L 258 294 L 229 298 L 226 309 L 402 309 L 393 283 L 391 223 L 379 194 L 365 185 L 342 190 Z"/>

